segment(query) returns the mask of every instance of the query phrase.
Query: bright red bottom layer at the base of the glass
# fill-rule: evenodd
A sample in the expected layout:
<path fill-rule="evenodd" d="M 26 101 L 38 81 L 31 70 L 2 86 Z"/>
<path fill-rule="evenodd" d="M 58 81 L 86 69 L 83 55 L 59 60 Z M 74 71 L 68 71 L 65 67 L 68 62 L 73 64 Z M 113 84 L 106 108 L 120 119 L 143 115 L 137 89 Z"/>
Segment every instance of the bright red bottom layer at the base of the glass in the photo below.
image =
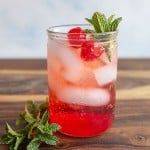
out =
<path fill-rule="evenodd" d="M 88 117 L 88 118 L 87 118 Z M 113 122 L 113 115 L 98 115 L 98 116 L 87 116 L 79 120 L 79 117 L 72 115 L 67 117 L 67 120 L 51 120 L 52 122 L 58 123 L 62 129 L 60 133 L 72 136 L 72 137 L 93 137 L 100 135 L 107 131 Z"/>

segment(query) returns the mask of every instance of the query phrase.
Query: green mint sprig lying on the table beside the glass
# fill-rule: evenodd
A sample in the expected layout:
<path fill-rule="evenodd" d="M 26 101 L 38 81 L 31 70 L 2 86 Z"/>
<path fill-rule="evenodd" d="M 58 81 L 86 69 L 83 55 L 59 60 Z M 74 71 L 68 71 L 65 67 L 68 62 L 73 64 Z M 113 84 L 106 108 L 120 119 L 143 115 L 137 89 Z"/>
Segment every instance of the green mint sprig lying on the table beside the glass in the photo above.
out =
<path fill-rule="evenodd" d="M 48 122 L 48 102 L 39 107 L 33 101 L 28 101 L 25 110 L 20 113 L 16 120 L 16 125 L 20 125 L 19 130 L 14 130 L 6 123 L 6 133 L 1 137 L 3 144 L 9 144 L 10 150 L 21 149 L 25 144 L 27 150 L 38 150 L 41 143 L 56 145 L 58 138 L 54 133 L 60 129 L 55 123 Z"/>

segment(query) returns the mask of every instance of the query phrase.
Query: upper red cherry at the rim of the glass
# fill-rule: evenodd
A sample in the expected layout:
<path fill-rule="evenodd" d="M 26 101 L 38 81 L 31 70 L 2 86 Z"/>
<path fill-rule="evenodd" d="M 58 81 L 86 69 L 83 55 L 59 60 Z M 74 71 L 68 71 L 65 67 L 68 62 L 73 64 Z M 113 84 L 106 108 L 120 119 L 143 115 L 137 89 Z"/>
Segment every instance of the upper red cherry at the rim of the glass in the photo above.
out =
<path fill-rule="evenodd" d="M 72 47 L 79 48 L 86 39 L 86 33 L 80 27 L 75 27 L 69 30 L 68 39 Z"/>

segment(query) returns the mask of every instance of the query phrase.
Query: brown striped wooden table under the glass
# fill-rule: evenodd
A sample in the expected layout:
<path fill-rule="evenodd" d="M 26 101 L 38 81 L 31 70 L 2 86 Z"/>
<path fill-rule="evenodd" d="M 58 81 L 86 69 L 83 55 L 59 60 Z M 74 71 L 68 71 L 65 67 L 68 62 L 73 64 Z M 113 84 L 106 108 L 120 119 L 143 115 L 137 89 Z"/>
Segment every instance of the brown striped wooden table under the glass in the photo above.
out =
<path fill-rule="evenodd" d="M 0 60 L 0 135 L 14 125 L 25 101 L 47 97 L 45 60 Z M 72 138 L 59 134 L 56 147 L 41 150 L 150 150 L 150 60 L 119 60 L 116 117 L 101 136 Z M 8 146 L 0 145 L 0 150 Z"/>

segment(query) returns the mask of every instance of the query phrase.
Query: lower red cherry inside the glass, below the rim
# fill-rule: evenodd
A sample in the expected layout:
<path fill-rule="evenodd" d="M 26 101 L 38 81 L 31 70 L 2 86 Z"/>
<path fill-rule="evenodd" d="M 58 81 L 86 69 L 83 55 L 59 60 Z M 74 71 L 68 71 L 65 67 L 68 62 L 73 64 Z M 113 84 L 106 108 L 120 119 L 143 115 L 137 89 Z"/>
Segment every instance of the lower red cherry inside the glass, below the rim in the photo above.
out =
<path fill-rule="evenodd" d="M 100 57 L 103 52 L 103 46 L 94 40 L 87 40 L 81 46 L 80 56 L 85 61 L 92 61 Z"/>

